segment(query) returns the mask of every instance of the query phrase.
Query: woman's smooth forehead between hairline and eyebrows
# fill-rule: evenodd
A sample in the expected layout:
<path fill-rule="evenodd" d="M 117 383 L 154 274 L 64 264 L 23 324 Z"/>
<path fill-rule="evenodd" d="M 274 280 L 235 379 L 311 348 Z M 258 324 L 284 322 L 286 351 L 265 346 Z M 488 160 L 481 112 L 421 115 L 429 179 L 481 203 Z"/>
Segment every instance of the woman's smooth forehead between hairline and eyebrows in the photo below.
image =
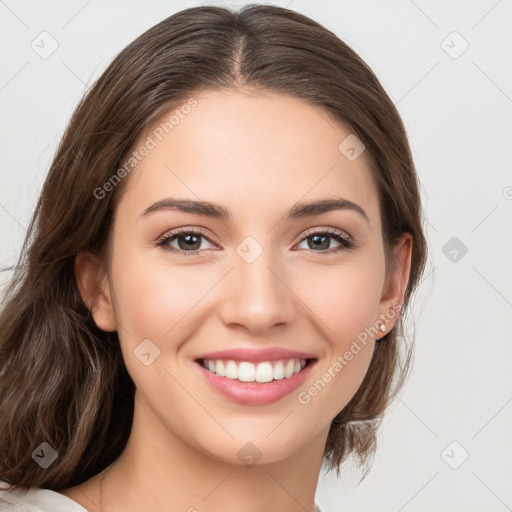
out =
<path fill-rule="evenodd" d="M 139 215 L 173 196 L 225 204 L 247 218 L 279 215 L 301 200 L 342 197 L 378 217 L 365 154 L 351 160 L 340 151 L 351 132 L 324 109 L 247 90 L 193 99 L 193 107 L 185 101 L 138 138 L 136 151 L 151 149 L 130 175 L 120 202 L 125 213 Z"/>

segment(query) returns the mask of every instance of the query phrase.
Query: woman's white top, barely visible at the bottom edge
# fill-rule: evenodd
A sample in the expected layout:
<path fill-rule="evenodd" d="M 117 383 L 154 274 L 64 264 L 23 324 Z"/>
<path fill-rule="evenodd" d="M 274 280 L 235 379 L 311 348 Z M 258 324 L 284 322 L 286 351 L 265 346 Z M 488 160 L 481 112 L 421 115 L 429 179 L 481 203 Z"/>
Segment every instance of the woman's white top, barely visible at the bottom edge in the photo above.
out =
<path fill-rule="evenodd" d="M 76 501 L 50 489 L 30 487 L 9 491 L 1 483 L 0 512 L 88 512 Z M 316 504 L 315 512 L 322 512 Z"/>

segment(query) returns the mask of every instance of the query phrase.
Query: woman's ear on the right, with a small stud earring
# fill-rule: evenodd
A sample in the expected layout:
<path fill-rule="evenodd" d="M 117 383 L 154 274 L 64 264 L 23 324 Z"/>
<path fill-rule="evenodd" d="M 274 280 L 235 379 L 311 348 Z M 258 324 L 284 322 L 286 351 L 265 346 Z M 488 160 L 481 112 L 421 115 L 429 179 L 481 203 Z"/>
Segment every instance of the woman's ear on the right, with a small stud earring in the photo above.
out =
<path fill-rule="evenodd" d="M 404 233 L 393 250 L 395 270 L 391 275 L 386 276 L 379 304 L 379 318 L 386 327 L 382 336 L 393 329 L 400 316 L 397 313 L 402 306 L 407 283 L 409 282 L 412 244 L 411 234 Z M 394 313 L 392 313 L 393 310 Z"/>

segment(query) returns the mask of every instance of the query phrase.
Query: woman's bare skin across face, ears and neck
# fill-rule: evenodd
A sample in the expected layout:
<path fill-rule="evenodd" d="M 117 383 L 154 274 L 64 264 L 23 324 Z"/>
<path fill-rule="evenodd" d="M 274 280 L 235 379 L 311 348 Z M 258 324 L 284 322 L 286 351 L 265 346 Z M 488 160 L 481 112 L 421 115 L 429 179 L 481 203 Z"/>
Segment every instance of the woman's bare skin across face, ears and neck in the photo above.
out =
<path fill-rule="evenodd" d="M 195 98 L 197 106 L 129 177 L 115 209 L 108 277 L 93 255 L 76 259 L 84 301 L 100 328 L 118 331 L 137 387 L 130 439 L 104 480 L 103 511 L 313 511 L 330 423 L 359 388 L 375 340 L 308 404 L 298 393 L 402 302 L 412 240 L 403 236 L 396 270 L 386 275 L 376 185 L 364 153 L 349 161 L 338 150 L 351 132 L 327 112 L 248 89 Z M 169 196 L 212 201 L 232 216 L 169 209 L 140 217 Z M 369 222 L 352 210 L 283 219 L 299 201 L 340 197 L 363 208 Z M 206 232 L 199 254 L 156 246 L 181 227 Z M 334 253 L 340 244 L 331 238 L 327 248 L 312 249 L 304 234 L 311 228 L 337 229 L 357 247 Z M 252 263 L 236 252 L 248 236 L 263 248 Z M 171 245 L 180 247 L 177 239 Z M 133 353 L 147 338 L 160 349 L 149 366 Z M 272 404 L 234 403 L 192 371 L 200 353 L 267 346 L 318 359 L 304 385 Z M 252 467 L 237 457 L 248 442 L 261 452 Z M 100 510 L 100 476 L 61 492 Z"/>

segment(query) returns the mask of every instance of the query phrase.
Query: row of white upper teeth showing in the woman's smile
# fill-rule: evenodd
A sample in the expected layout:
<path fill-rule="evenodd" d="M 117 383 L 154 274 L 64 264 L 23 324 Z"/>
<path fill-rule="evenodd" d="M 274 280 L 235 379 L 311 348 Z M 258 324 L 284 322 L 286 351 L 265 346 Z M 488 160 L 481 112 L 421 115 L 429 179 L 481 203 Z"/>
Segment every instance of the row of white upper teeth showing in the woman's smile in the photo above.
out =
<path fill-rule="evenodd" d="M 226 377 L 241 382 L 271 382 L 273 380 L 289 379 L 299 373 L 305 366 L 305 359 L 281 359 L 275 363 L 264 361 L 250 363 L 247 361 L 206 360 L 202 365 L 219 377 Z"/>

